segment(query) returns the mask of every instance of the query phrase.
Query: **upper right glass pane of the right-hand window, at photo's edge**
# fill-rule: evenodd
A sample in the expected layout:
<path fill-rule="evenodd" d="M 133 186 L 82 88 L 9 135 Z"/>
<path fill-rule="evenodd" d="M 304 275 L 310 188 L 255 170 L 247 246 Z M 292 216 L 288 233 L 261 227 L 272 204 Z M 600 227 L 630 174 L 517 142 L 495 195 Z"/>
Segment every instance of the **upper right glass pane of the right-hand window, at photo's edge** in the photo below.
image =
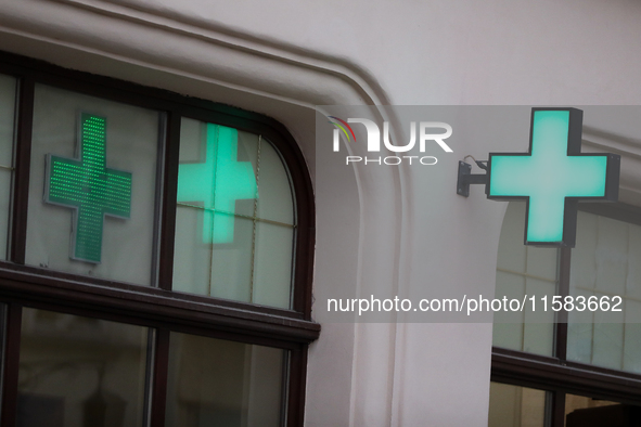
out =
<path fill-rule="evenodd" d="M 641 227 L 579 212 L 571 295 L 620 297 L 620 312 L 572 311 L 567 359 L 641 373 Z"/>

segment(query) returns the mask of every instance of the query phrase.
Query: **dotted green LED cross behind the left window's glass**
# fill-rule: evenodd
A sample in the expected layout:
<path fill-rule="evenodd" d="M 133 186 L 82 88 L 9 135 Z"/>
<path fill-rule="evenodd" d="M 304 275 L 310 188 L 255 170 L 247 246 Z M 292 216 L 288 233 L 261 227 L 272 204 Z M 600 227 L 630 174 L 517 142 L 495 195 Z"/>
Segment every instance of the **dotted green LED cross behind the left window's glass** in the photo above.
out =
<path fill-rule="evenodd" d="M 47 156 L 44 200 L 75 210 L 70 258 L 100 263 L 104 216 L 129 218 L 131 173 L 106 167 L 106 119 L 80 114 L 80 159 Z"/>

